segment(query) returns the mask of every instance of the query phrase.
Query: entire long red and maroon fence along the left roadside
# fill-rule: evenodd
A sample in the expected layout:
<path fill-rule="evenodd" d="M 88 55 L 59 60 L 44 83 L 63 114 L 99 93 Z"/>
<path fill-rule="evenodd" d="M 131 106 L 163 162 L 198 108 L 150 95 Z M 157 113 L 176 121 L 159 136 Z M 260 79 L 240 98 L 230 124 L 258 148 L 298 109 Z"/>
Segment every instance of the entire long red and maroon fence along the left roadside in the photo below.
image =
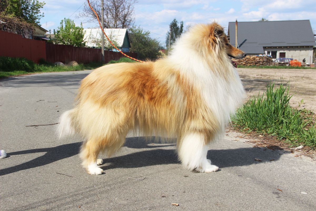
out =
<path fill-rule="evenodd" d="M 137 53 L 125 53 L 137 58 Z M 87 64 L 102 62 L 101 49 L 55 45 L 45 41 L 22 38 L 21 35 L 0 30 L 0 56 L 24 57 L 36 63 L 43 58 L 48 62 L 68 63 L 76 61 Z M 105 63 L 123 57 L 119 52 L 104 51 Z"/>

